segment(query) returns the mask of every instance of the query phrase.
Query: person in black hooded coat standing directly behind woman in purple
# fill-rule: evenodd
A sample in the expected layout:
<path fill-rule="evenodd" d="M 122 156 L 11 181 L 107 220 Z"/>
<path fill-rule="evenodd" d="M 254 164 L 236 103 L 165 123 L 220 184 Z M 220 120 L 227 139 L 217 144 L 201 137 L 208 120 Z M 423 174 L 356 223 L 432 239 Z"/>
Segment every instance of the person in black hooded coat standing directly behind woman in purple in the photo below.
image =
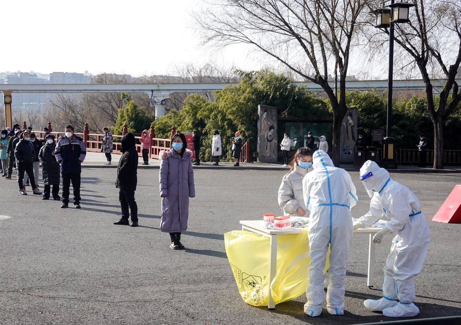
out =
<path fill-rule="evenodd" d="M 115 187 L 119 189 L 118 200 L 122 207 L 122 218 L 114 225 L 128 225 L 128 218 L 131 210 L 131 227 L 138 225 L 138 206 L 135 201 L 138 169 L 138 153 L 135 148 L 135 136 L 133 133 L 125 134 L 120 140 L 122 147 L 120 151 L 123 152 L 122 157 L 118 161 L 117 167 L 117 182 Z"/>

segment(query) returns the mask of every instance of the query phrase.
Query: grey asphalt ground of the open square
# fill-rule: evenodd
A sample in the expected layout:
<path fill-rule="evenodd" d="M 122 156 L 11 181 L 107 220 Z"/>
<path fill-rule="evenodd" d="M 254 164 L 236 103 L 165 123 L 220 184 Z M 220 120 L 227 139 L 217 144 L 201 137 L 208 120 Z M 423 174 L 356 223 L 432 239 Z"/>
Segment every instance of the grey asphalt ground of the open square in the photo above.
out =
<path fill-rule="evenodd" d="M 197 196 L 190 202 L 185 251 L 168 248 L 160 232 L 158 171 L 138 172 L 139 228 L 114 226 L 119 217 L 114 169 L 83 169 L 82 209 L 21 196 L 14 180 L 0 179 L 0 324 L 357 324 L 390 320 L 363 307 L 381 294 L 383 262 L 389 251 L 378 245 L 376 286 L 366 286 L 367 239 L 355 236 L 347 264 L 346 312 L 312 319 L 305 296 L 275 311 L 255 308 L 239 296 L 223 234 L 239 220 L 279 212 L 282 171 L 196 170 Z M 368 198 L 351 173 L 361 216 Z M 459 174 L 399 173 L 392 177 L 420 198 L 432 242 L 416 279 L 419 317 L 461 314 L 461 225 L 431 222 Z M 242 252 L 244 253 L 244 252 Z M 325 307 L 325 306 L 324 306 Z"/>

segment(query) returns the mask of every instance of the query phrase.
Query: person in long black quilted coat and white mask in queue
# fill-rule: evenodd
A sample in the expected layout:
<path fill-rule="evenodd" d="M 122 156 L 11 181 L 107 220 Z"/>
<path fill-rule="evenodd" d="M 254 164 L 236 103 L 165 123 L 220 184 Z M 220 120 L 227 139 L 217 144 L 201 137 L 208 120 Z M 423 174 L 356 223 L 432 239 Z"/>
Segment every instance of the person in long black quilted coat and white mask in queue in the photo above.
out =
<path fill-rule="evenodd" d="M 59 171 L 59 162 L 56 161 L 54 154 L 54 148 L 56 147 L 54 138 L 53 134 L 48 133 L 45 136 L 45 144 L 40 148 L 38 154 L 38 160 L 42 166 L 41 174 L 43 177 L 43 184 L 45 185 L 42 200 L 48 200 L 50 198 L 51 185 L 53 185 L 53 200 L 61 200 L 59 197 L 61 173 Z"/>

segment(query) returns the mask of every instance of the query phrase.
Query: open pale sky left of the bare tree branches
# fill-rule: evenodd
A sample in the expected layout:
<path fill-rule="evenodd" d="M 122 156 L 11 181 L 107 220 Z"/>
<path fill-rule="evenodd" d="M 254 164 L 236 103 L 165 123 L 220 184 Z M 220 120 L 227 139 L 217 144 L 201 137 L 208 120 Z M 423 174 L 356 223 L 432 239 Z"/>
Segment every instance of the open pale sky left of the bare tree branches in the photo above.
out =
<path fill-rule="evenodd" d="M 264 65 L 243 46 L 200 45 L 197 0 L 2 1 L 0 72 L 166 74 L 175 64 Z M 7 45 L 6 43 L 9 43 Z"/>

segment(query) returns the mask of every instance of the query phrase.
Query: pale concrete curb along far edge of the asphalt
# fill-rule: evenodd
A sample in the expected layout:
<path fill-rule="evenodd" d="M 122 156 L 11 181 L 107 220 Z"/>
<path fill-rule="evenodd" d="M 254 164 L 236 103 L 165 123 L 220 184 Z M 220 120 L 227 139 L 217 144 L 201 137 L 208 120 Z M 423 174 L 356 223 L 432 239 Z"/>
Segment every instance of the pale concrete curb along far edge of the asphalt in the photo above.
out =
<path fill-rule="evenodd" d="M 117 165 L 82 165 L 82 168 L 117 168 Z M 285 167 L 271 167 L 271 166 L 258 166 L 253 164 L 234 166 L 213 166 L 213 165 L 201 165 L 193 166 L 194 169 L 217 169 L 217 170 L 243 170 L 243 171 L 288 171 Z M 160 169 L 160 165 L 138 165 L 138 169 Z M 358 168 L 343 168 L 346 171 L 360 171 Z M 390 173 L 429 173 L 429 174 L 455 174 L 461 173 L 460 170 L 455 169 L 390 169 Z"/>

